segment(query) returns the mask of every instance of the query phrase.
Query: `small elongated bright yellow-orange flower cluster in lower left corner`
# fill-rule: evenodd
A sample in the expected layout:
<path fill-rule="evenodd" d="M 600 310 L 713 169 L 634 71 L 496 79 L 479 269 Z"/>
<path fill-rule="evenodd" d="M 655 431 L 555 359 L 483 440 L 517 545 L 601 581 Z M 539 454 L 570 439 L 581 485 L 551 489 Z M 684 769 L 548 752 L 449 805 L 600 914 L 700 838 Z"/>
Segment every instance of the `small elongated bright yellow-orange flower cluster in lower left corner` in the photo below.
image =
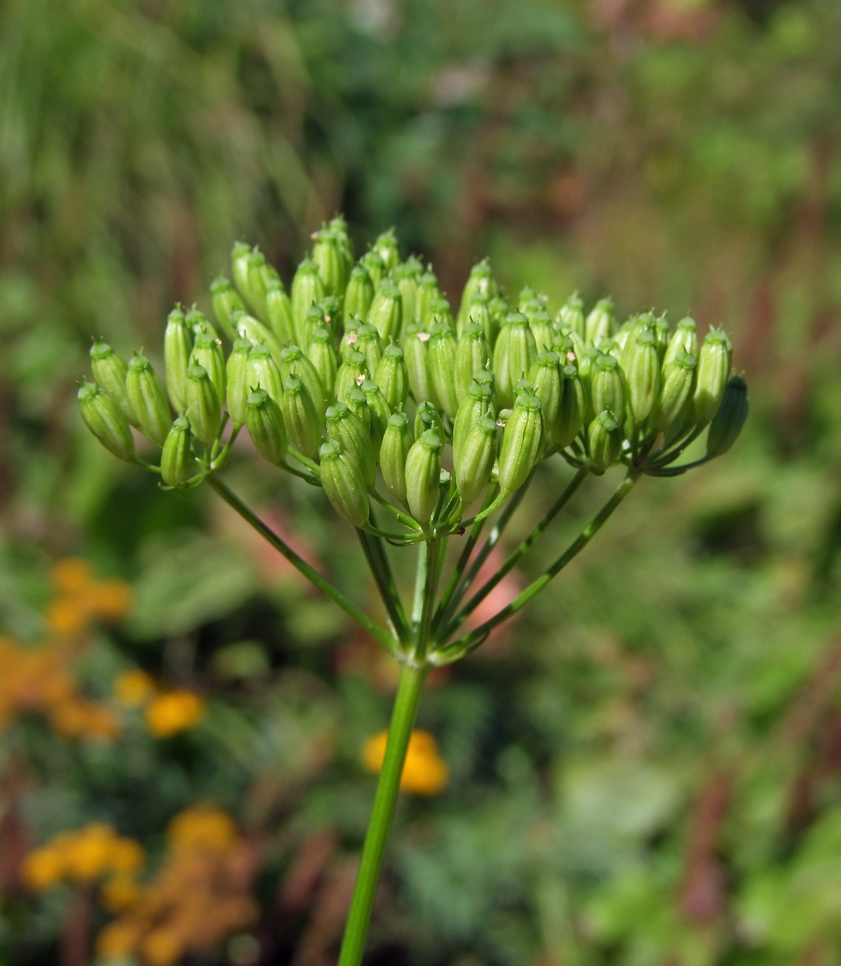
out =
<path fill-rule="evenodd" d="M 143 848 L 133 838 L 118 836 L 110 825 L 94 823 L 63 832 L 26 856 L 23 881 L 43 892 L 58 882 L 87 885 L 109 877 L 106 889 L 133 883 L 144 863 Z"/>

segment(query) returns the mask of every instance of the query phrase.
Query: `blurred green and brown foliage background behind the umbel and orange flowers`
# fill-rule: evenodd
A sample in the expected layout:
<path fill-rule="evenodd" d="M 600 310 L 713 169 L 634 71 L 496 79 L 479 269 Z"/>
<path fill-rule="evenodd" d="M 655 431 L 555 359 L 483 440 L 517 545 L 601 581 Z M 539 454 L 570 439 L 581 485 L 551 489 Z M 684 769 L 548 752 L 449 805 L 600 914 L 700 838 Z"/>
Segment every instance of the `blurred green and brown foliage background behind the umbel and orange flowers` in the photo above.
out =
<path fill-rule="evenodd" d="M 429 690 L 451 781 L 402 803 L 372 962 L 841 961 L 836 0 L 7 0 L 0 104 L 0 618 L 40 639 L 50 561 L 84 554 L 135 593 L 79 666 L 90 694 L 139 666 L 210 702 L 165 741 L 139 715 L 106 746 L 6 728 L 0 962 L 81 966 L 68 896 L 20 888 L 27 847 L 105 820 L 154 861 L 202 801 L 259 843 L 259 961 L 335 949 L 388 674 L 206 495 L 101 453 L 70 399 L 91 333 L 157 345 L 236 237 L 289 277 L 338 209 L 359 247 L 396 224 L 453 295 L 490 253 L 554 304 L 691 307 L 734 332 L 754 403 L 727 460 L 645 481 Z M 311 492 L 247 453 L 231 472 L 370 593 Z M 207 961 L 258 961 L 242 948 Z"/>

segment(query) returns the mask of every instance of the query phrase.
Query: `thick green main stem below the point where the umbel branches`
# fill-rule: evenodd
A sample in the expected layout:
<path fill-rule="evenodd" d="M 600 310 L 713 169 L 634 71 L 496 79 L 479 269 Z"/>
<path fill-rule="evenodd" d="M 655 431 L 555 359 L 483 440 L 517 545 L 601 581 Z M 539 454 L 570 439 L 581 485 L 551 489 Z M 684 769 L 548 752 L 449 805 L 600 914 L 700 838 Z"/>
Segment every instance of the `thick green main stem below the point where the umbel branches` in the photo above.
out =
<path fill-rule="evenodd" d="M 345 926 L 345 938 L 342 942 L 338 966 L 359 966 L 365 952 L 365 940 L 368 936 L 371 913 L 374 910 L 374 900 L 377 897 L 385 843 L 397 805 L 408 740 L 417 716 L 427 669 L 405 665 L 401 671 L 400 686 L 397 689 L 391 725 L 388 728 L 385 759 L 382 762 L 382 771 L 379 773 L 374 810 L 365 836 L 362 860 L 350 902 L 350 913 Z"/>

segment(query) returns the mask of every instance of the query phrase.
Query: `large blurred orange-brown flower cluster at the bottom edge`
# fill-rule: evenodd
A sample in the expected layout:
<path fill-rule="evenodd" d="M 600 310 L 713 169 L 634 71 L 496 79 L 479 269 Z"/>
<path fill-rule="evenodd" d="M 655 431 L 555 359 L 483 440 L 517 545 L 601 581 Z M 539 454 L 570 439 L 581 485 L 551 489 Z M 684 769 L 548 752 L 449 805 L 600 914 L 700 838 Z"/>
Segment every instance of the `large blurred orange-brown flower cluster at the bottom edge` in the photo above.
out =
<path fill-rule="evenodd" d="M 257 918 L 248 895 L 252 848 L 223 811 L 183 811 L 167 830 L 166 859 L 125 913 L 98 936 L 101 959 L 136 956 L 145 966 L 172 966 L 207 950 Z"/>

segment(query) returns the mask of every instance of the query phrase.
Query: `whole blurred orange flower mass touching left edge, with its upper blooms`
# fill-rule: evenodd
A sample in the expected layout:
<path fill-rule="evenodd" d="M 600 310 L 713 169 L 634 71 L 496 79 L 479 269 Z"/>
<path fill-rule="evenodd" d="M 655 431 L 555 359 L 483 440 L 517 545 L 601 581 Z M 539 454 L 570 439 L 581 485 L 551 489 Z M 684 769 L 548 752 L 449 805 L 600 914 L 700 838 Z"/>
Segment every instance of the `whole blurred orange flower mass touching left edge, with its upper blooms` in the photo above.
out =
<path fill-rule="evenodd" d="M 113 738 L 120 730 L 104 704 L 78 689 L 72 671 L 79 635 L 95 618 L 122 617 L 130 603 L 123 581 L 98 581 L 84 560 L 61 560 L 53 568 L 55 597 L 44 613 L 51 639 L 28 647 L 0 638 L 0 727 L 16 715 L 46 715 L 53 729 L 67 738 Z"/>

